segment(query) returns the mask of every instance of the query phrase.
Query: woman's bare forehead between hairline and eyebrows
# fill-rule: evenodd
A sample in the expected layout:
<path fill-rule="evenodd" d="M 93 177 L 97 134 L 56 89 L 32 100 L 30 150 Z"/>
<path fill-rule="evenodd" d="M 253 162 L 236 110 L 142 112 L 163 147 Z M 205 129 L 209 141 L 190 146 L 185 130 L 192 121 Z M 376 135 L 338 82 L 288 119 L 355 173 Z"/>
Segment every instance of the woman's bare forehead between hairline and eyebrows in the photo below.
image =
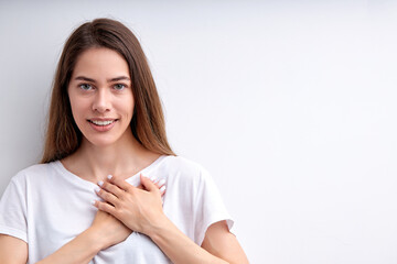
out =
<path fill-rule="evenodd" d="M 95 47 L 83 52 L 73 70 L 73 76 L 108 78 L 119 75 L 129 76 L 127 61 L 117 52 L 106 47 Z"/>

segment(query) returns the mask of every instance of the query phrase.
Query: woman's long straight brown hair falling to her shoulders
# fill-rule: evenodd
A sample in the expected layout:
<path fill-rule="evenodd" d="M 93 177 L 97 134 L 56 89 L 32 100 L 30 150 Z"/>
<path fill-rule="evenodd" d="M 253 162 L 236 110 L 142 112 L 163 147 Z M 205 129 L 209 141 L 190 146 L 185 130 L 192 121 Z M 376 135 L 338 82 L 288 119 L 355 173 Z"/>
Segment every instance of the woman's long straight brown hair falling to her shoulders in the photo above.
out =
<path fill-rule="evenodd" d="M 118 21 L 96 19 L 77 28 L 63 48 L 53 82 L 41 163 L 64 158 L 81 145 L 83 135 L 72 116 L 67 86 L 78 56 L 93 47 L 106 47 L 118 52 L 129 66 L 135 100 L 130 127 L 137 141 L 149 151 L 175 155 L 167 140 L 161 101 L 137 37 Z"/>

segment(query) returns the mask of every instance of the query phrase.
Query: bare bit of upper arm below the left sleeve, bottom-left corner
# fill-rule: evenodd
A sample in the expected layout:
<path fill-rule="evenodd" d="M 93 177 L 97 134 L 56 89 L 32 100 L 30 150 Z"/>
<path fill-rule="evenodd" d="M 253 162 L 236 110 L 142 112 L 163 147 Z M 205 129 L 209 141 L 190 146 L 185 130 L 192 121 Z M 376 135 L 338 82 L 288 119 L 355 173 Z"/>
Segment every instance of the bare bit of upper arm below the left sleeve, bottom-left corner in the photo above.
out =
<path fill-rule="evenodd" d="M 14 237 L 0 234 L 0 263 L 26 264 L 28 243 Z"/>

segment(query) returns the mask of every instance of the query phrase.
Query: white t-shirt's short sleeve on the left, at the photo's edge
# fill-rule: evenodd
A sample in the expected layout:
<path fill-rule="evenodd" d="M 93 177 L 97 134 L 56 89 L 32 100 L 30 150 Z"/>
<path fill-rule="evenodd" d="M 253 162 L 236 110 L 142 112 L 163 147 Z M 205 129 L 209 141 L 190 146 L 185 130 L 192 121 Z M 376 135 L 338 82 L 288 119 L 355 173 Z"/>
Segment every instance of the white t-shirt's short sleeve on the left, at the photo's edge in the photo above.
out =
<path fill-rule="evenodd" d="M 11 179 L 0 200 L 0 233 L 28 243 L 25 193 L 15 177 Z"/>

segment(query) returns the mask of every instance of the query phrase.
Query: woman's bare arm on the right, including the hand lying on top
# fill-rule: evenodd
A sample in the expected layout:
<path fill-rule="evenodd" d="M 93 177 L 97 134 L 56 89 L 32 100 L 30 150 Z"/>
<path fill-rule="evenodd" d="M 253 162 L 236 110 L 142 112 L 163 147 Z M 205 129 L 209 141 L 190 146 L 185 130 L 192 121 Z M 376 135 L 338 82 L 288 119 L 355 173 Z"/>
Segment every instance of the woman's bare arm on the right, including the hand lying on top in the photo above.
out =
<path fill-rule="evenodd" d="M 112 215 L 131 230 L 149 235 L 164 254 L 178 263 L 248 263 L 236 238 L 224 221 L 212 224 L 203 248 L 195 244 L 162 211 L 161 193 L 150 179 L 141 176 L 146 190 L 126 184 L 117 177 L 101 184 L 96 201 L 98 209 Z"/>

